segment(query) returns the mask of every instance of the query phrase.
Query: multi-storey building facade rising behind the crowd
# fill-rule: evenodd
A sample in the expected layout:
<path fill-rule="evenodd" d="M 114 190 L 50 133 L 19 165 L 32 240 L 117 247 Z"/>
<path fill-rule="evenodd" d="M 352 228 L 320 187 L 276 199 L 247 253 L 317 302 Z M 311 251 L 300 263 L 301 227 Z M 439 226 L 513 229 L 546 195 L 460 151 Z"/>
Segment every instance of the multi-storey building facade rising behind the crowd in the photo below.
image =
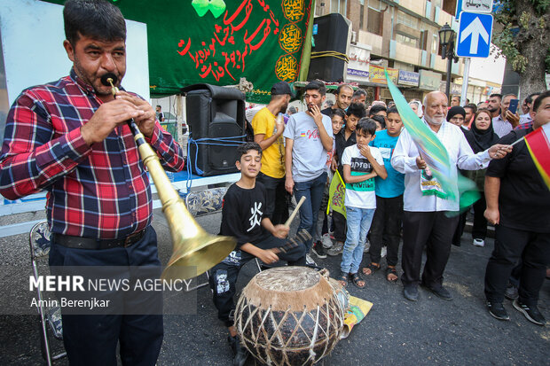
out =
<path fill-rule="evenodd" d="M 447 59 L 442 58 L 438 31 L 445 23 L 458 31 L 457 0 L 318 0 L 315 15 L 339 12 L 351 20 L 350 62 L 345 82 L 367 90 L 369 101 L 391 99 L 385 79 L 392 81 L 407 100 L 422 99 L 433 90 L 444 91 Z M 464 58 L 452 63 L 451 94 L 460 95 Z M 468 98 L 484 100 L 500 85 L 469 78 Z"/>

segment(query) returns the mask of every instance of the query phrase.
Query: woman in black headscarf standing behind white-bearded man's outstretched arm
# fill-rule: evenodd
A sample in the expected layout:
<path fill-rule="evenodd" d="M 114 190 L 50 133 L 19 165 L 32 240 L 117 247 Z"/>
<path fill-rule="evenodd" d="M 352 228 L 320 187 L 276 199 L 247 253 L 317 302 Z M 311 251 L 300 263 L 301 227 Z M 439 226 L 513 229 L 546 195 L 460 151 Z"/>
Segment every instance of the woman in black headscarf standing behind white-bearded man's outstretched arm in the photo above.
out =
<path fill-rule="evenodd" d="M 475 113 L 472 128 L 465 132 L 465 136 L 474 153 L 483 152 L 499 141 L 499 136 L 495 134 L 492 128 L 491 112 L 489 112 L 488 109 L 480 109 Z M 472 238 L 474 238 L 473 244 L 475 246 L 485 245 L 485 236 L 487 235 L 487 220 L 485 220 L 483 216 L 485 208 L 487 207 L 484 194 L 486 170 L 485 168 L 468 171 L 468 177 L 475 182 L 481 194 L 481 199 L 474 204 L 474 228 L 472 229 Z"/>

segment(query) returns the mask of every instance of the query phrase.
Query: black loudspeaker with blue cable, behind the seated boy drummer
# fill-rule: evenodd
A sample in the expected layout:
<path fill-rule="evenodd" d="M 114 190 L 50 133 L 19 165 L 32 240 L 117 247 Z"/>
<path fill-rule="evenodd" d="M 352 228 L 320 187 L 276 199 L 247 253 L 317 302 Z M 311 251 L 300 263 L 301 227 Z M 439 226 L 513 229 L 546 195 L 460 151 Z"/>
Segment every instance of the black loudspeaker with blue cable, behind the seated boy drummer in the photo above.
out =
<path fill-rule="evenodd" d="M 189 156 L 196 175 L 236 173 L 237 146 L 246 140 L 245 95 L 209 84 L 182 89 L 189 126 Z"/>

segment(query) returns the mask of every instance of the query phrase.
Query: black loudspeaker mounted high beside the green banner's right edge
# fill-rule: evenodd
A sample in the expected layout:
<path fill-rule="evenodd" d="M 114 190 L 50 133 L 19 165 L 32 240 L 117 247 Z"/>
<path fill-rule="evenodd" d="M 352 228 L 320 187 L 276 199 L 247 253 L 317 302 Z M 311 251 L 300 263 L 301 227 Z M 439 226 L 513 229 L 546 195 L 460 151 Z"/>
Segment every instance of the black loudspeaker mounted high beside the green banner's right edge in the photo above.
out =
<path fill-rule="evenodd" d="M 344 55 L 347 53 L 350 22 L 342 14 L 331 13 L 315 18 L 313 24 L 313 29 L 317 28 L 317 35 L 313 35 L 315 47 L 311 47 L 312 57 L 317 56 L 313 52 L 337 51 Z M 340 58 L 311 58 L 308 80 L 343 82 L 344 67 L 345 61 Z"/>

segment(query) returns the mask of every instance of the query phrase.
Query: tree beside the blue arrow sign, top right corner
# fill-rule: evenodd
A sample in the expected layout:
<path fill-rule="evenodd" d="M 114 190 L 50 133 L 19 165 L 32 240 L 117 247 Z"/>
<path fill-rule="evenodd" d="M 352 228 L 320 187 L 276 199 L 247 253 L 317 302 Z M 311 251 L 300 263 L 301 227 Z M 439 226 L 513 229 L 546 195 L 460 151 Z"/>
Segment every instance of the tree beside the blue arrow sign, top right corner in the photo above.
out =
<path fill-rule="evenodd" d="M 550 0 L 497 0 L 492 42 L 520 74 L 523 97 L 546 90 L 550 73 Z"/>

